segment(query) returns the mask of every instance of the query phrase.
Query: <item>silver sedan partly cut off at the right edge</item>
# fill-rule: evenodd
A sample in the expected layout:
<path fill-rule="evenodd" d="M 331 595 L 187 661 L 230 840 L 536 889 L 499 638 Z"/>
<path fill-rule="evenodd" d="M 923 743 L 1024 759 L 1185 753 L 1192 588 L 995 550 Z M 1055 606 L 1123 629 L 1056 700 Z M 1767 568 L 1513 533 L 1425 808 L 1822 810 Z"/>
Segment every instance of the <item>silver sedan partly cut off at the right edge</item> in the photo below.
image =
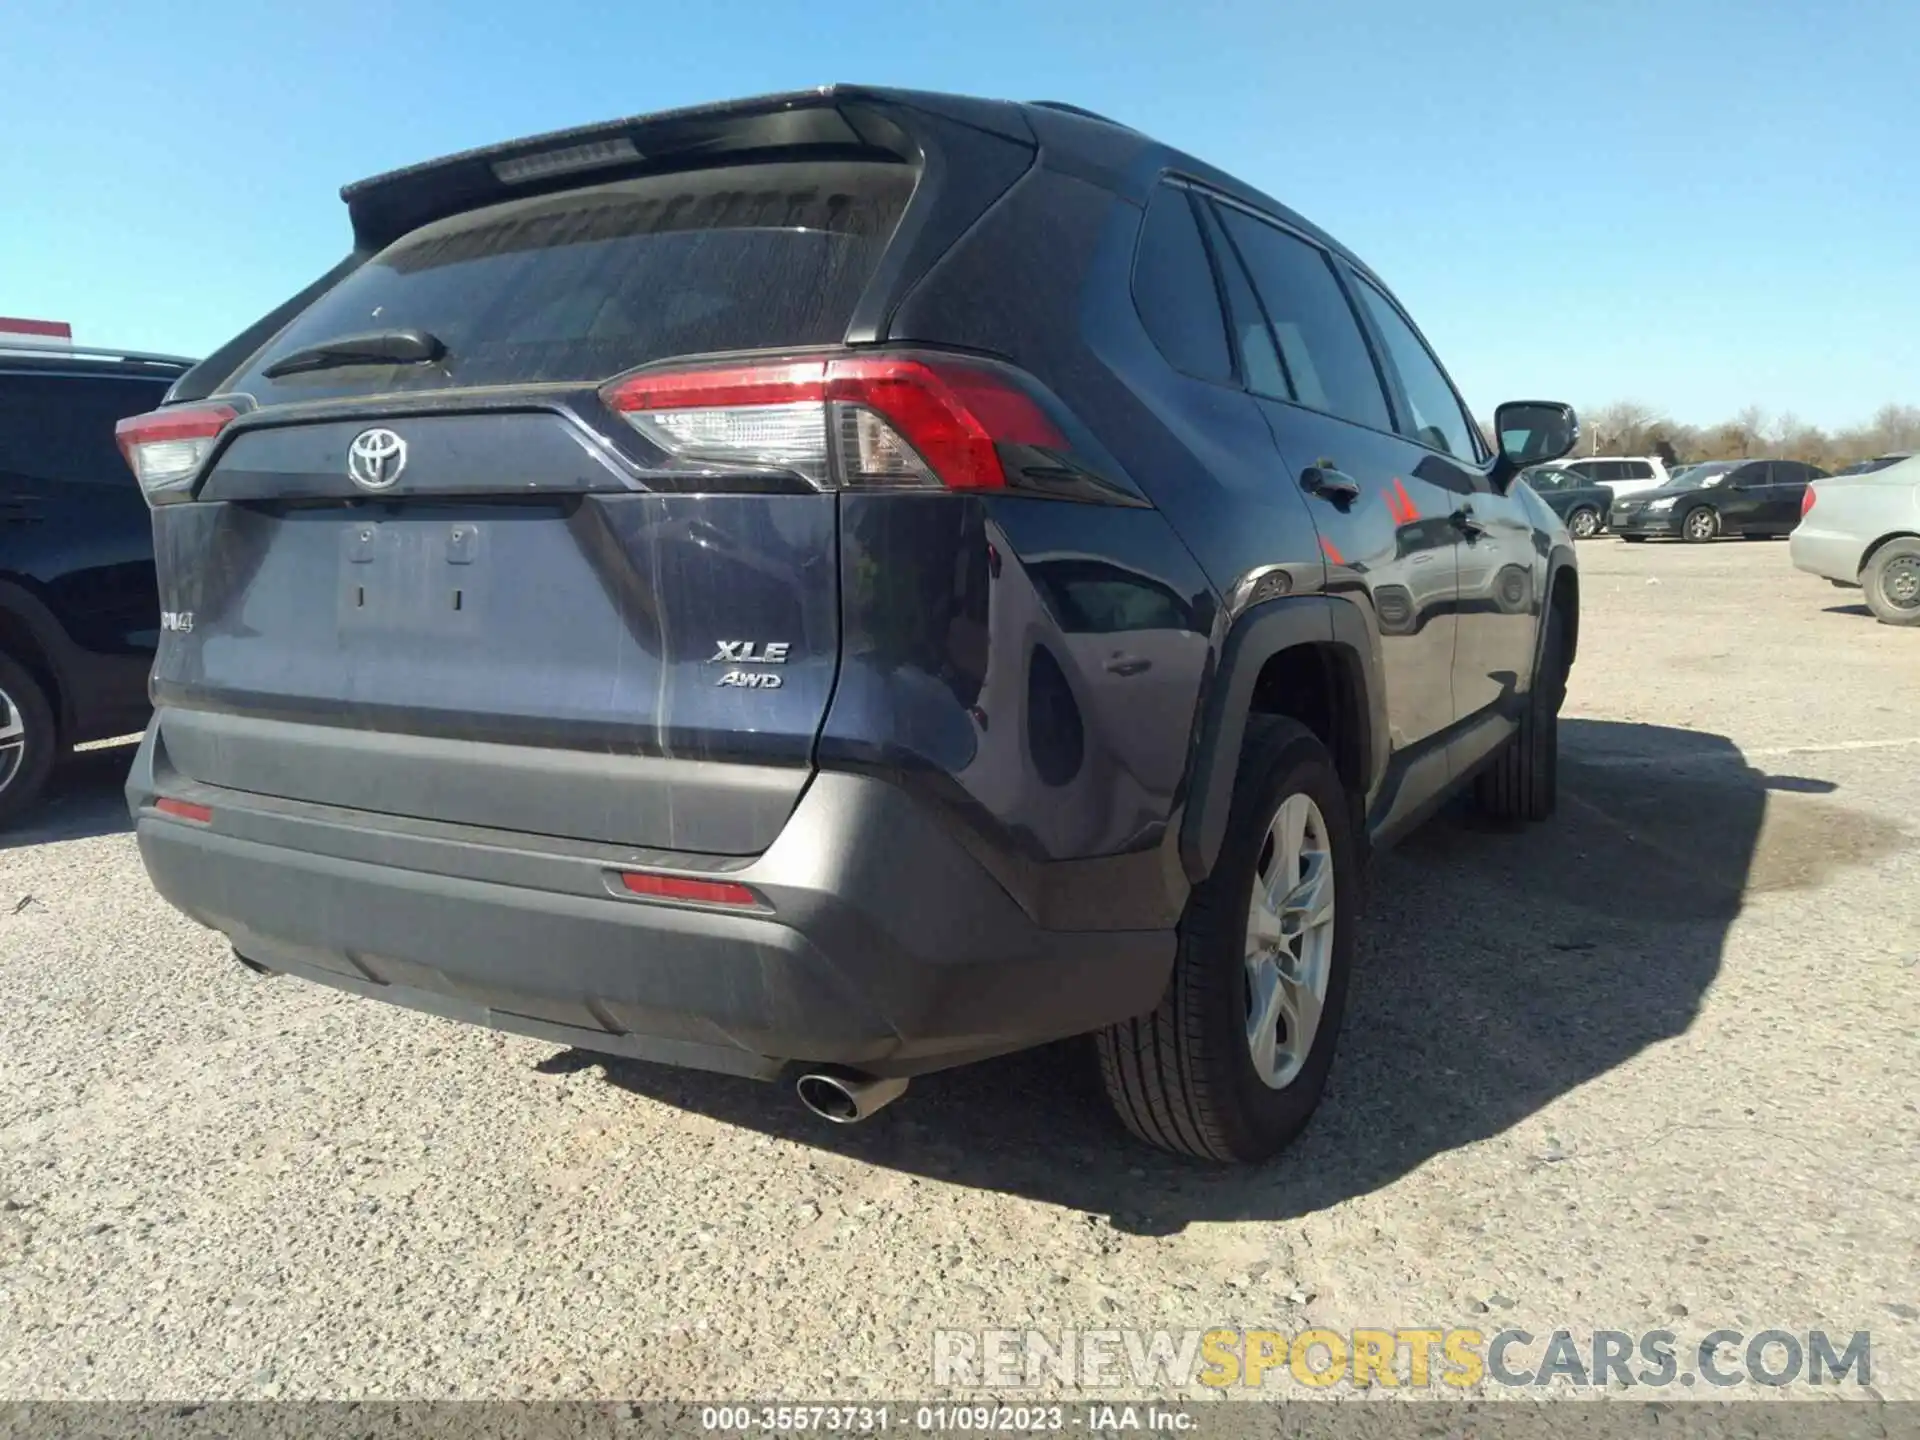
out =
<path fill-rule="evenodd" d="M 1920 457 L 1807 486 L 1793 564 L 1866 591 L 1889 626 L 1920 626 Z"/>

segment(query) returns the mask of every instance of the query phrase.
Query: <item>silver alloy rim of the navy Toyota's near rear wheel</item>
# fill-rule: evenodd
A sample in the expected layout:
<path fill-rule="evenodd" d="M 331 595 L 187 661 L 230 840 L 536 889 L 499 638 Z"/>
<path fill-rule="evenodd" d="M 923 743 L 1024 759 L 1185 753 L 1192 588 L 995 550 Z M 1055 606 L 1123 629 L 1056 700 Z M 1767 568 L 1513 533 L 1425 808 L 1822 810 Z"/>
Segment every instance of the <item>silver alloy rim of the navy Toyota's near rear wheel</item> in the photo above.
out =
<path fill-rule="evenodd" d="M 1246 1048 L 1254 1073 L 1284 1091 L 1308 1062 L 1332 970 L 1332 843 L 1306 795 L 1267 824 L 1246 916 Z"/>

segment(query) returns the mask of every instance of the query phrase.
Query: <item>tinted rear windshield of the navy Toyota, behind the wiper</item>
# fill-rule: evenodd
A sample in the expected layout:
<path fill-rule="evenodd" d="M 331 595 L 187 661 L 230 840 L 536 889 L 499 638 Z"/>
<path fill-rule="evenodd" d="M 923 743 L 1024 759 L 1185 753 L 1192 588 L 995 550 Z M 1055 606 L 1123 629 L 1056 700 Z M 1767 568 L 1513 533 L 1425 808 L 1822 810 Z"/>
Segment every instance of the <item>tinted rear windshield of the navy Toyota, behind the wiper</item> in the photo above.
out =
<path fill-rule="evenodd" d="M 872 161 L 743 165 L 436 221 L 321 296 L 223 388 L 273 405 L 603 380 L 672 355 L 835 344 L 914 177 Z M 396 328 L 426 330 L 445 355 L 265 376 L 296 349 Z"/>

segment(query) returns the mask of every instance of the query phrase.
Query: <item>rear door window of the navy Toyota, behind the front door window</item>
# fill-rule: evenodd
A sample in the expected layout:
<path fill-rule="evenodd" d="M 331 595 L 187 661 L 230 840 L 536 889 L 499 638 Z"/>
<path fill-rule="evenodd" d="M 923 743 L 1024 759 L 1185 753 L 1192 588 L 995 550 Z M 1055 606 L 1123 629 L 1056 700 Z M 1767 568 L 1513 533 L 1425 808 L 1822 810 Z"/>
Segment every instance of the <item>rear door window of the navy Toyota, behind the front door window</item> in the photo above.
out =
<path fill-rule="evenodd" d="M 1392 430 L 1373 351 L 1327 252 L 1246 211 L 1219 207 L 1217 213 L 1254 280 L 1288 397 L 1356 424 Z"/>

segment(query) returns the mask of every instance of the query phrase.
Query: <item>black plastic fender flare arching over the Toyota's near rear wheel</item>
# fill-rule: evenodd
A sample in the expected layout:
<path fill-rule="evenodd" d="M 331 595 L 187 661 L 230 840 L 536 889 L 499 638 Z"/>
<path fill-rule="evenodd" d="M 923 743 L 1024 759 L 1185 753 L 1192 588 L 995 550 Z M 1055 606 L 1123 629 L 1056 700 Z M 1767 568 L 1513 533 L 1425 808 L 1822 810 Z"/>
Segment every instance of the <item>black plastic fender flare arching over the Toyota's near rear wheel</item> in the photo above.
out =
<path fill-rule="evenodd" d="M 1219 664 L 1200 701 L 1200 724 L 1188 776 L 1187 812 L 1181 818 L 1181 868 L 1192 883 L 1206 879 L 1227 833 L 1233 791 L 1240 768 L 1240 743 L 1252 714 L 1254 685 L 1261 668 L 1281 651 L 1302 645 L 1331 645 L 1346 651 L 1357 674 L 1361 695 L 1357 714 L 1361 795 L 1356 812 L 1386 772 L 1386 689 L 1380 678 L 1380 645 L 1363 612 L 1334 595 L 1294 595 L 1258 605 L 1227 632 Z"/>

